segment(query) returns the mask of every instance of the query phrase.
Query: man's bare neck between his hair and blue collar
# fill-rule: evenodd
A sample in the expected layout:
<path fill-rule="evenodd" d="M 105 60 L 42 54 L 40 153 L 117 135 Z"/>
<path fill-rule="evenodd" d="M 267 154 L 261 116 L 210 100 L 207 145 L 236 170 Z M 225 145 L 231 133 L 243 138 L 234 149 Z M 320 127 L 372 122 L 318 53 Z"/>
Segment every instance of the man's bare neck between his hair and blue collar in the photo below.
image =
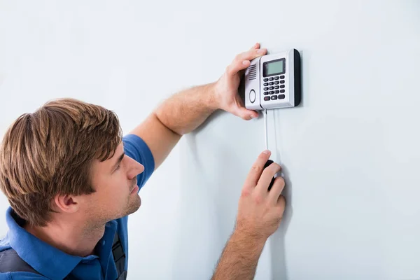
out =
<path fill-rule="evenodd" d="M 31 235 L 64 253 L 80 257 L 94 253 L 94 247 L 104 236 L 105 231 L 105 225 L 80 226 L 80 223 L 69 223 L 69 221 L 54 221 L 45 227 L 26 224 L 24 228 Z"/>

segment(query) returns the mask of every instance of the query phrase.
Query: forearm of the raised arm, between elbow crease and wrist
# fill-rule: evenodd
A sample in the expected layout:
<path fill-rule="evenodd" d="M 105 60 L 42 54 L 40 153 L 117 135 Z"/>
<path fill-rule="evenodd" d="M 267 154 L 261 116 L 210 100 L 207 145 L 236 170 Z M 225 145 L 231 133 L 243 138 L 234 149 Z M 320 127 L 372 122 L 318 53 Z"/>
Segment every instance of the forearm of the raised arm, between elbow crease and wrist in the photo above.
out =
<path fill-rule="evenodd" d="M 155 114 L 169 130 L 182 136 L 199 127 L 216 109 L 214 83 L 209 83 L 174 94 Z"/>

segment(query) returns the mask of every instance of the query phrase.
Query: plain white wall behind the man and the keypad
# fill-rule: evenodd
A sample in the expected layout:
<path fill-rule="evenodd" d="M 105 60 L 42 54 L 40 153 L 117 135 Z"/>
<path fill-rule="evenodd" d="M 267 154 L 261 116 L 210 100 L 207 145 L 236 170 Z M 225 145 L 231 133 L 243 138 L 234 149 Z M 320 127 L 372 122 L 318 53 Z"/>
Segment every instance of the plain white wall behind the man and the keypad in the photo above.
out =
<path fill-rule="evenodd" d="M 420 279 L 420 2 L 201 2 L 0 1 L 0 135 L 55 97 L 128 132 L 256 41 L 297 48 L 302 106 L 269 112 L 286 216 L 255 279 Z M 181 141 L 129 219 L 130 279 L 210 278 L 263 131 L 216 113 Z"/>

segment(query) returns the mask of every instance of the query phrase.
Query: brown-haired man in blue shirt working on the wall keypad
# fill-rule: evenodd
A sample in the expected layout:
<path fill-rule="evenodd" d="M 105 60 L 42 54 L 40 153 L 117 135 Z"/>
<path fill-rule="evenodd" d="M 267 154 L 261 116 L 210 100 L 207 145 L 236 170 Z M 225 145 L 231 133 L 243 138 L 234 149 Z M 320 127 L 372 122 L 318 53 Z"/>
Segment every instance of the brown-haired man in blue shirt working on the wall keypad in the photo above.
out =
<path fill-rule="evenodd" d="M 257 43 L 235 57 L 216 82 L 174 94 L 130 134 L 102 106 L 58 99 L 11 125 L 0 147 L 0 188 L 8 198 L 8 235 L 0 241 L 0 279 L 125 279 L 127 216 L 139 189 L 183 134 L 217 109 L 244 120 L 237 92 Z M 213 279 L 253 279 L 285 201 L 280 167 L 260 154 L 244 183 L 235 230 Z"/>

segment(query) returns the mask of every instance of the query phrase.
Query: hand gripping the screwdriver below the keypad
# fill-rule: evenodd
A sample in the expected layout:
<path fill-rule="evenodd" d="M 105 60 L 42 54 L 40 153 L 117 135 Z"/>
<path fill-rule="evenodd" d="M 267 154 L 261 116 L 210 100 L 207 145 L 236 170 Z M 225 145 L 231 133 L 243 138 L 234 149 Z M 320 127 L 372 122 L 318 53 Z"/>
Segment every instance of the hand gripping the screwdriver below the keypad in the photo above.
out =
<path fill-rule="evenodd" d="M 272 235 L 283 218 L 286 202 L 281 195 L 284 179 L 278 176 L 271 190 L 269 183 L 274 174 L 280 171 L 280 165 L 272 163 L 264 169 L 270 152 L 264 151 L 254 162 L 248 173 L 239 199 L 235 234 L 252 241 L 263 241 Z"/>

